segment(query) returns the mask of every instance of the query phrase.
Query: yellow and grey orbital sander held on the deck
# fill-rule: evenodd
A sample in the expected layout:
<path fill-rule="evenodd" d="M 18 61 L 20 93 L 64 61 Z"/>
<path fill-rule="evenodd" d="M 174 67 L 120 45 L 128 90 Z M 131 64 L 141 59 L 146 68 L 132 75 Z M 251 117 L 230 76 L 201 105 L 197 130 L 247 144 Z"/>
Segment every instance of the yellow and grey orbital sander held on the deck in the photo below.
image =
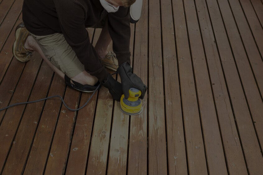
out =
<path fill-rule="evenodd" d="M 142 112 L 141 91 L 136 88 L 129 89 L 129 98 L 126 99 L 124 94 L 121 97 L 120 108 L 124 114 L 127 115 L 138 115 Z"/>

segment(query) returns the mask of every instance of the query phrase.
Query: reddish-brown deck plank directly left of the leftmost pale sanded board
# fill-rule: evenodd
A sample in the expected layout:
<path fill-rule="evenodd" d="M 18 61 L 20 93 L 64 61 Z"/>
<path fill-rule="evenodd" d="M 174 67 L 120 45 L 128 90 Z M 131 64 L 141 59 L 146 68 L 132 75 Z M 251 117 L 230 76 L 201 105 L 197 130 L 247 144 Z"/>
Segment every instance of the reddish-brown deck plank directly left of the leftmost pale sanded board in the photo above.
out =
<path fill-rule="evenodd" d="M 89 28 L 88 32 L 92 41 L 95 30 Z M 91 94 L 82 93 L 80 106 L 85 104 Z M 89 104 L 78 112 L 66 174 L 85 174 L 97 96 L 98 92 L 94 94 Z"/>

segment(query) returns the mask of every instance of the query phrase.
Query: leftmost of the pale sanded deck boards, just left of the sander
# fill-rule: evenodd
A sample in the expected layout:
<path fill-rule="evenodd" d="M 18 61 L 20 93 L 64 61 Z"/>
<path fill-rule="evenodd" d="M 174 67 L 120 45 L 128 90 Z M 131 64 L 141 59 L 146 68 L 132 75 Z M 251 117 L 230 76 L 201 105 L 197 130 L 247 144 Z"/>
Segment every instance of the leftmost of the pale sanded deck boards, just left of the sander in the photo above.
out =
<path fill-rule="evenodd" d="M 102 29 L 95 29 L 93 46 L 97 43 Z M 112 43 L 110 46 L 112 47 Z M 109 71 L 113 73 L 112 71 Z M 115 75 L 113 76 L 116 77 Z M 107 171 L 108 147 L 110 141 L 113 99 L 108 89 L 99 90 L 95 120 L 86 174 L 105 174 Z"/>

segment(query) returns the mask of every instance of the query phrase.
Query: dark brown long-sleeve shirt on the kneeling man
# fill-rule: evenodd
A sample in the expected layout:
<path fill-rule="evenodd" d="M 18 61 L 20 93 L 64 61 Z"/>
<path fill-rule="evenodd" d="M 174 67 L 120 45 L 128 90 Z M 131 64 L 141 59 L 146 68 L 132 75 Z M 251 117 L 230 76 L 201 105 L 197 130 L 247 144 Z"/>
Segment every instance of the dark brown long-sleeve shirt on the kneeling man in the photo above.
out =
<path fill-rule="evenodd" d="M 99 0 L 25 0 L 23 4 L 23 21 L 29 32 L 38 36 L 62 33 L 85 70 L 99 81 L 105 80 L 108 72 L 99 61 L 86 28 L 98 24 L 105 13 L 108 12 Z M 130 63 L 129 8 L 120 7 L 107 15 L 118 63 Z"/>

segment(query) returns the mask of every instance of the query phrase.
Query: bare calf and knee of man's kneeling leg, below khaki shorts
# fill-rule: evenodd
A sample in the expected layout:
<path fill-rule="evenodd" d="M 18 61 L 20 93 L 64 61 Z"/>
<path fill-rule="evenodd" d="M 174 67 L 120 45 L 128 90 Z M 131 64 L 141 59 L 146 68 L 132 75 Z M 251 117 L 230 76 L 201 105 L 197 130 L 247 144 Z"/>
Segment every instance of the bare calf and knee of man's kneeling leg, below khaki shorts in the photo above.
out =
<path fill-rule="evenodd" d="M 50 68 L 56 72 L 62 79 L 64 79 L 65 74 L 59 70 L 56 66 L 54 66 L 44 55 L 43 51 L 39 47 L 38 43 L 35 41 L 35 39 L 29 35 L 25 41 L 24 47 L 29 51 L 36 51 L 40 54 L 40 56 L 43 58 L 43 60 L 50 66 Z M 89 85 L 95 85 L 98 82 L 98 79 L 94 76 L 91 76 L 89 73 L 87 73 L 85 70 L 81 72 L 80 74 L 76 75 L 75 77 L 71 78 L 72 80 L 81 83 L 81 84 L 89 84 Z M 72 82 L 71 82 L 72 83 Z"/>

